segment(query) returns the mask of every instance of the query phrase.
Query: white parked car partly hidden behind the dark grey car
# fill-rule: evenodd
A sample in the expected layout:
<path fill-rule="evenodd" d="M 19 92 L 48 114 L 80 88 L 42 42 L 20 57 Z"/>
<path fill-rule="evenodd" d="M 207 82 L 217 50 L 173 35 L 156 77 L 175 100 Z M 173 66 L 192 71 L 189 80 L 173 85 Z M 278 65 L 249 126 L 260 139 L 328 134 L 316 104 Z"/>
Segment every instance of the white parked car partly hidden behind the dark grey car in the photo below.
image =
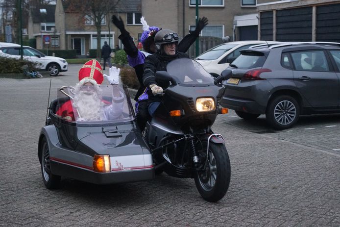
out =
<path fill-rule="evenodd" d="M 249 40 L 223 43 L 198 55 L 195 60 L 208 73 L 217 77 L 240 55 L 241 50 L 248 49 L 253 45 L 273 43 L 279 42 Z"/>

